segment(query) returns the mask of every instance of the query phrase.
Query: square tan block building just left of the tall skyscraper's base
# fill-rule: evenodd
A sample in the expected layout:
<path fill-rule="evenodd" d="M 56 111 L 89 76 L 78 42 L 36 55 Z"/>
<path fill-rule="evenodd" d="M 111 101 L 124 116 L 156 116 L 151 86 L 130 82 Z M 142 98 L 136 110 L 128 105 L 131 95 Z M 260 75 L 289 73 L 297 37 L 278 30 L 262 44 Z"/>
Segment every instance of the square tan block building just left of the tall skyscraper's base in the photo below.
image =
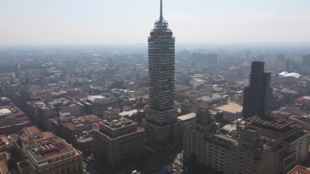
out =
<path fill-rule="evenodd" d="M 93 130 L 96 155 L 105 158 L 111 166 L 142 157 L 145 133 L 137 123 L 124 118 L 104 120 Z"/>

